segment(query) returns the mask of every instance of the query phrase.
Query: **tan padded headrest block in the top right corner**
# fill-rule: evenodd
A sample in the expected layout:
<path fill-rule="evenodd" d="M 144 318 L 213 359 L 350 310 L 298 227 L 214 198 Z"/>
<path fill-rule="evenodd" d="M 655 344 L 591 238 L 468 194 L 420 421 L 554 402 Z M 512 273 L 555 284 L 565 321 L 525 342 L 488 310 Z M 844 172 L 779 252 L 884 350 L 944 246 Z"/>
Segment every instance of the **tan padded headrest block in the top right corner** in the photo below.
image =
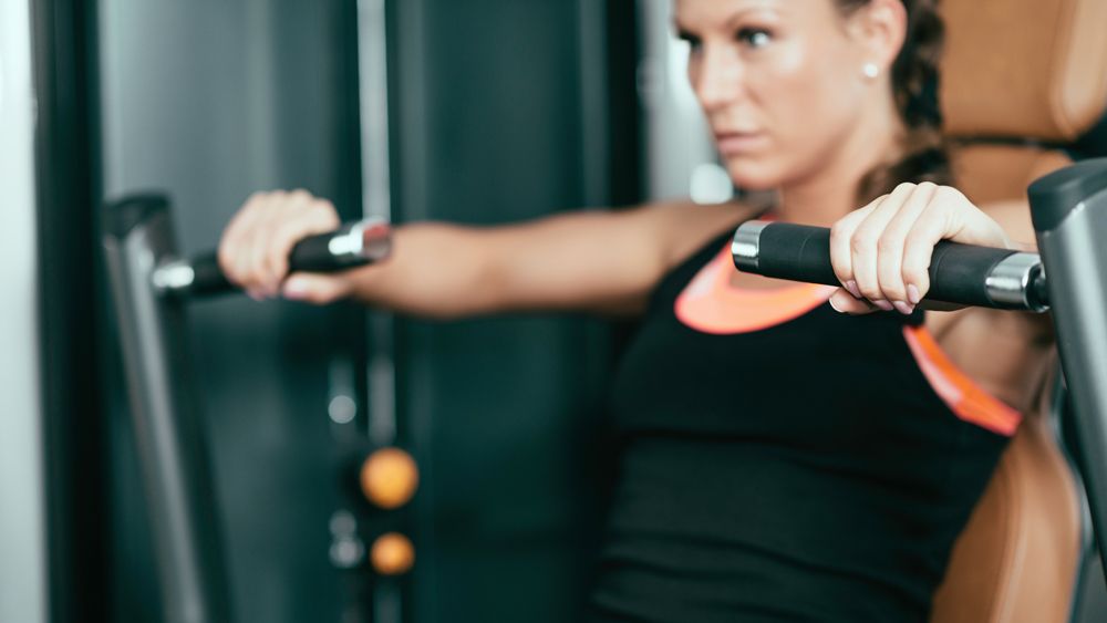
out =
<path fill-rule="evenodd" d="M 942 111 L 954 136 L 1073 141 L 1107 101 L 1107 2 L 940 0 Z"/>

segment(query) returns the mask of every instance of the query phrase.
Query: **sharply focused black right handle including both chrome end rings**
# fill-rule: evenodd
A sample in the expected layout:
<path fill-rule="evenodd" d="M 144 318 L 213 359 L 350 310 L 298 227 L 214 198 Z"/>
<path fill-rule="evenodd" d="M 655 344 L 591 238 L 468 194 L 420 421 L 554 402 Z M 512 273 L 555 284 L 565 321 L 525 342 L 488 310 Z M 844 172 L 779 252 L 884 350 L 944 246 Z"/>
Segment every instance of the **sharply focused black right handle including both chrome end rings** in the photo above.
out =
<path fill-rule="evenodd" d="M 734 266 L 765 277 L 840 285 L 830 264 L 830 230 L 753 220 L 734 232 Z M 1035 253 L 942 241 L 930 261 L 927 300 L 1045 311 L 1045 273 Z"/>

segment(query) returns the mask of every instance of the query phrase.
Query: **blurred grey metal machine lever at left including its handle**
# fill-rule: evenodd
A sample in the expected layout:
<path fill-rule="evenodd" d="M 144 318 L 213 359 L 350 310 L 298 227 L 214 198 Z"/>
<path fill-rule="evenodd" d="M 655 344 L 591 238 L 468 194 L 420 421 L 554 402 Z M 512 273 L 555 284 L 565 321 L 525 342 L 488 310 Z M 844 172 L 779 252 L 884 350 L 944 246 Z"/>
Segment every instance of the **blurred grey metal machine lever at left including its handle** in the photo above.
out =
<path fill-rule="evenodd" d="M 168 200 L 131 197 L 105 210 L 104 250 L 167 623 L 232 621 L 210 460 L 192 382 L 185 304 L 232 290 L 215 253 L 177 256 Z M 366 220 L 300 241 L 292 270 L 384 259 L 387 225 Z"/>

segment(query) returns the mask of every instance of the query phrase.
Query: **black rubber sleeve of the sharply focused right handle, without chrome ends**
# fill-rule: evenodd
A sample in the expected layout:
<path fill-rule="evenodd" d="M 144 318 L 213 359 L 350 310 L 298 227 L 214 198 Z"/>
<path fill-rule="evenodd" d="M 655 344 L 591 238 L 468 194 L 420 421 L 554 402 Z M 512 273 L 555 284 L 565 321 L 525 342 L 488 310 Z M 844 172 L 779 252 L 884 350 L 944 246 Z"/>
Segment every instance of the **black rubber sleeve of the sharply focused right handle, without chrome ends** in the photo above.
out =
<path fill-rule="evenodd" d="M 1002 307 L 987 295 L 989 273 L 997 263 L 1016 253 L 942 241 L 930 261 L 930 291 L 927 300 L 960 305 Z M 788 279 L 840 285 L 830 266 L 830 230 L 789 222 L 769 224 L 758 241 L 757 269 L 752 272 Z"/>

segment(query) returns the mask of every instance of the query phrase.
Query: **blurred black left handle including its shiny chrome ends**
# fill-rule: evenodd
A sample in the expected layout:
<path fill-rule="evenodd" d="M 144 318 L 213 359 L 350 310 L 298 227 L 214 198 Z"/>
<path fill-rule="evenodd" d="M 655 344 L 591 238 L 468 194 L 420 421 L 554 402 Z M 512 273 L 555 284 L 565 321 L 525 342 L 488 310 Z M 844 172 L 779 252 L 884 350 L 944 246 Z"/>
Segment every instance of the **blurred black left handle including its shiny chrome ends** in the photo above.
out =
<path fill-rule="evenodd" d="M 363 220 L 300 240 L 289 253 L 289 272 L 339 272 L 385 259 L 392 250 L 386 222 Z M 236 289 L 219 268 L 215 252 L 158 267 L 154 287 L 164 294 L 204 297 Z"/>

